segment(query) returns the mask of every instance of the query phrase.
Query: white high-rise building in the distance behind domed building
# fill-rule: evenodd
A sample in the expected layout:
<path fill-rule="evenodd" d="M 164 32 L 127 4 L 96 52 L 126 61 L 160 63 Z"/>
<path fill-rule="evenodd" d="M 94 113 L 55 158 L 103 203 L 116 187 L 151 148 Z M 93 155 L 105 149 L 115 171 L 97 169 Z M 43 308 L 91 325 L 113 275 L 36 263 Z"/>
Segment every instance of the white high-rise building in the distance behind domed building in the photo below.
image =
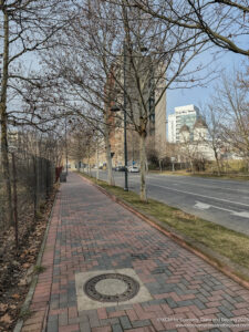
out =
<path fill-rule="evenodd" d="M 194 139 L 194 126 L 200 118 L 199 108 L 195 105 L 175 107 L 175 114 L 168 116 L 168 142 L 180 141 L 180 128 L 186 125 L 189 128 L 190 139 Z"/>

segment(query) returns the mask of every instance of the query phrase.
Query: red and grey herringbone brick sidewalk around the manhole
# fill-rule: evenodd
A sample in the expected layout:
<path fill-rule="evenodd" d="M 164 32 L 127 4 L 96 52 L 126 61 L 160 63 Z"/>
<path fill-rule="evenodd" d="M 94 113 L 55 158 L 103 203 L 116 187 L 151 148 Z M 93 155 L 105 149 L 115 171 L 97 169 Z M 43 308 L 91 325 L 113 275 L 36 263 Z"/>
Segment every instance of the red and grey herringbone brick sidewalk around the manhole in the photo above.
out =
<path fill-rule="evenodd" d="M 249 331 L 248 290 L 80 176 L 68 179 L 51 220 L 42 259 L 46 269 L 39 276 L 32 315 L 22 332 Z M 77 310 L 75 274 L 124 268 L 134 269 L 152 300 Z M 248 325 L 177 326 L 184 319 L 220 324 L 235 318 L 248 319 Z"/>

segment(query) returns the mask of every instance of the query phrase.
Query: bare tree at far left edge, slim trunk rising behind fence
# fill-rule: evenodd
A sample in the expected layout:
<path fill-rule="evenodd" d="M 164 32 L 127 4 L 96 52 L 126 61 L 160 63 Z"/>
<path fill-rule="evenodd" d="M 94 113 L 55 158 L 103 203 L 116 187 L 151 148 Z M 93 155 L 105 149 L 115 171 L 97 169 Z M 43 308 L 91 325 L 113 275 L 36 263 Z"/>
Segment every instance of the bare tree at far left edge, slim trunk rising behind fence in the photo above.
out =
<path fill-rule="evenodd" d="M 0 92 L 1 120 L 1 162 L 3 168 L 4 190 L 7 196 L 8 222 L 12 219 L 11 184 L 8 158 L 8 117 L 10 93 L 14 82 L 29 80 L 20 74 L 22 59 L 27 53 L 50 48 L 50 38 L 62 27 L 60 12 L 64 10 L 64 0 L 1 0 L 0 17 L 2 42 L 2 75 Z M 17 92 L 17 91 L 15 91 Z M 8 98 L 9 97 L 9 98 Z"/>

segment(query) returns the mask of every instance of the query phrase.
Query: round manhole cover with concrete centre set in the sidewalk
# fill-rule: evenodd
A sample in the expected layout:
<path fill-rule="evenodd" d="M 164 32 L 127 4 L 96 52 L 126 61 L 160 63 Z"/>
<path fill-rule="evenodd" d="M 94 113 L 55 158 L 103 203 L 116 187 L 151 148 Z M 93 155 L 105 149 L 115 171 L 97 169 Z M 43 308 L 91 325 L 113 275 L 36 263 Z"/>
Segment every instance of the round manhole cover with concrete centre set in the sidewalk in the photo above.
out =
<path fill-rule="evenodd" d="M 84 284 L 87 297 L 100 302 L 121 302 L 134 298 L 139 283 L 133 278 L 120 273 L 105 273 L 93 277 Z"/>

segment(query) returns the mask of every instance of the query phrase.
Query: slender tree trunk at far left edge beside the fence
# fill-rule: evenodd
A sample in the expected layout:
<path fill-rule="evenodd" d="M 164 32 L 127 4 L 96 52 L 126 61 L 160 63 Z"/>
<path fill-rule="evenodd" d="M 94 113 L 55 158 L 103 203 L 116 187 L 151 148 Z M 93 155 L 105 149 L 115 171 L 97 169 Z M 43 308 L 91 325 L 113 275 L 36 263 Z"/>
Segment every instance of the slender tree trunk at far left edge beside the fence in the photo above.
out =
<path fill-rule="evenodd" d="M 3 69 L 1 82 L 1 100 L 0 100 L 0 120 L 1 120 L 1 164 L 3 175 L 3 190 L 6 196 L 7 224 L 13 224 L 13 211 L 11 201 L 11 181 L 10 181 L 10 165 L 8 156 L 8 124 L 7 124 L 7 86 L 8 86 L 8 70 L 9 70 L 9 17 L 4 12 L 4 46 L 3 46 Z"/>

